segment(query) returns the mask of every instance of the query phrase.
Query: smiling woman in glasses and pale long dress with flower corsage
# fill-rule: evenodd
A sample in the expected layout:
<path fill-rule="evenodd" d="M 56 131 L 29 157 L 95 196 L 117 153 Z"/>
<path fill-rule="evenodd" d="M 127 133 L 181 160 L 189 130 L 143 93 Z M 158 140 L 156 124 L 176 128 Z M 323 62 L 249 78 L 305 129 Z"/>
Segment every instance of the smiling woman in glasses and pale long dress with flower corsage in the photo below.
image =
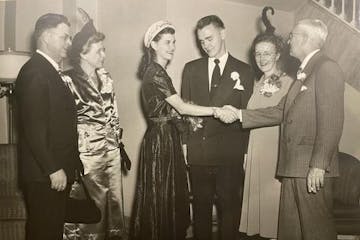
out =
<path fill-rule="evenodd" d="M 274 34 L 260 34 L 253 41 L 257 67 L 263 72 L 254 84 L 248 109 L 277 105 L 293 80 L 280 63 L 284 44 Z M 263 127 L 250 132 L 245 163 L 244 197 L 240 232 L 276 238 L 281 183 L 276 178 L 279 127 Z"/>

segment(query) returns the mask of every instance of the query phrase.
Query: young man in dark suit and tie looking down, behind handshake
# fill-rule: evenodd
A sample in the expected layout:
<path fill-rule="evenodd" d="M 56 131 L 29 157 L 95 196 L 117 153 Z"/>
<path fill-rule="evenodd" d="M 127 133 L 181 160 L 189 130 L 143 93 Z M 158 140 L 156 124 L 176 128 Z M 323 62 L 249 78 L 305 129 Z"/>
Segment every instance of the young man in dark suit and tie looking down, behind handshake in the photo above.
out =
<path fill-rule="evenodd" d="M 200 19 L 196 33 L 206 57 L 185 65 L 181 94 L 185 101 L 203 106 L 245 108 L 253 89 L 249 65 L 232 57 L 225 47 L 225 26 L 215 16 Z M 220 238 L 236 238 L 240 221 L 243 159 L 249 132 L 239 122 L 226 125 L 203 118 L 203 127 L 185 140 L 193 193 L 194 233 L 211 239 L 212 207 L 216 206 Z"/>

